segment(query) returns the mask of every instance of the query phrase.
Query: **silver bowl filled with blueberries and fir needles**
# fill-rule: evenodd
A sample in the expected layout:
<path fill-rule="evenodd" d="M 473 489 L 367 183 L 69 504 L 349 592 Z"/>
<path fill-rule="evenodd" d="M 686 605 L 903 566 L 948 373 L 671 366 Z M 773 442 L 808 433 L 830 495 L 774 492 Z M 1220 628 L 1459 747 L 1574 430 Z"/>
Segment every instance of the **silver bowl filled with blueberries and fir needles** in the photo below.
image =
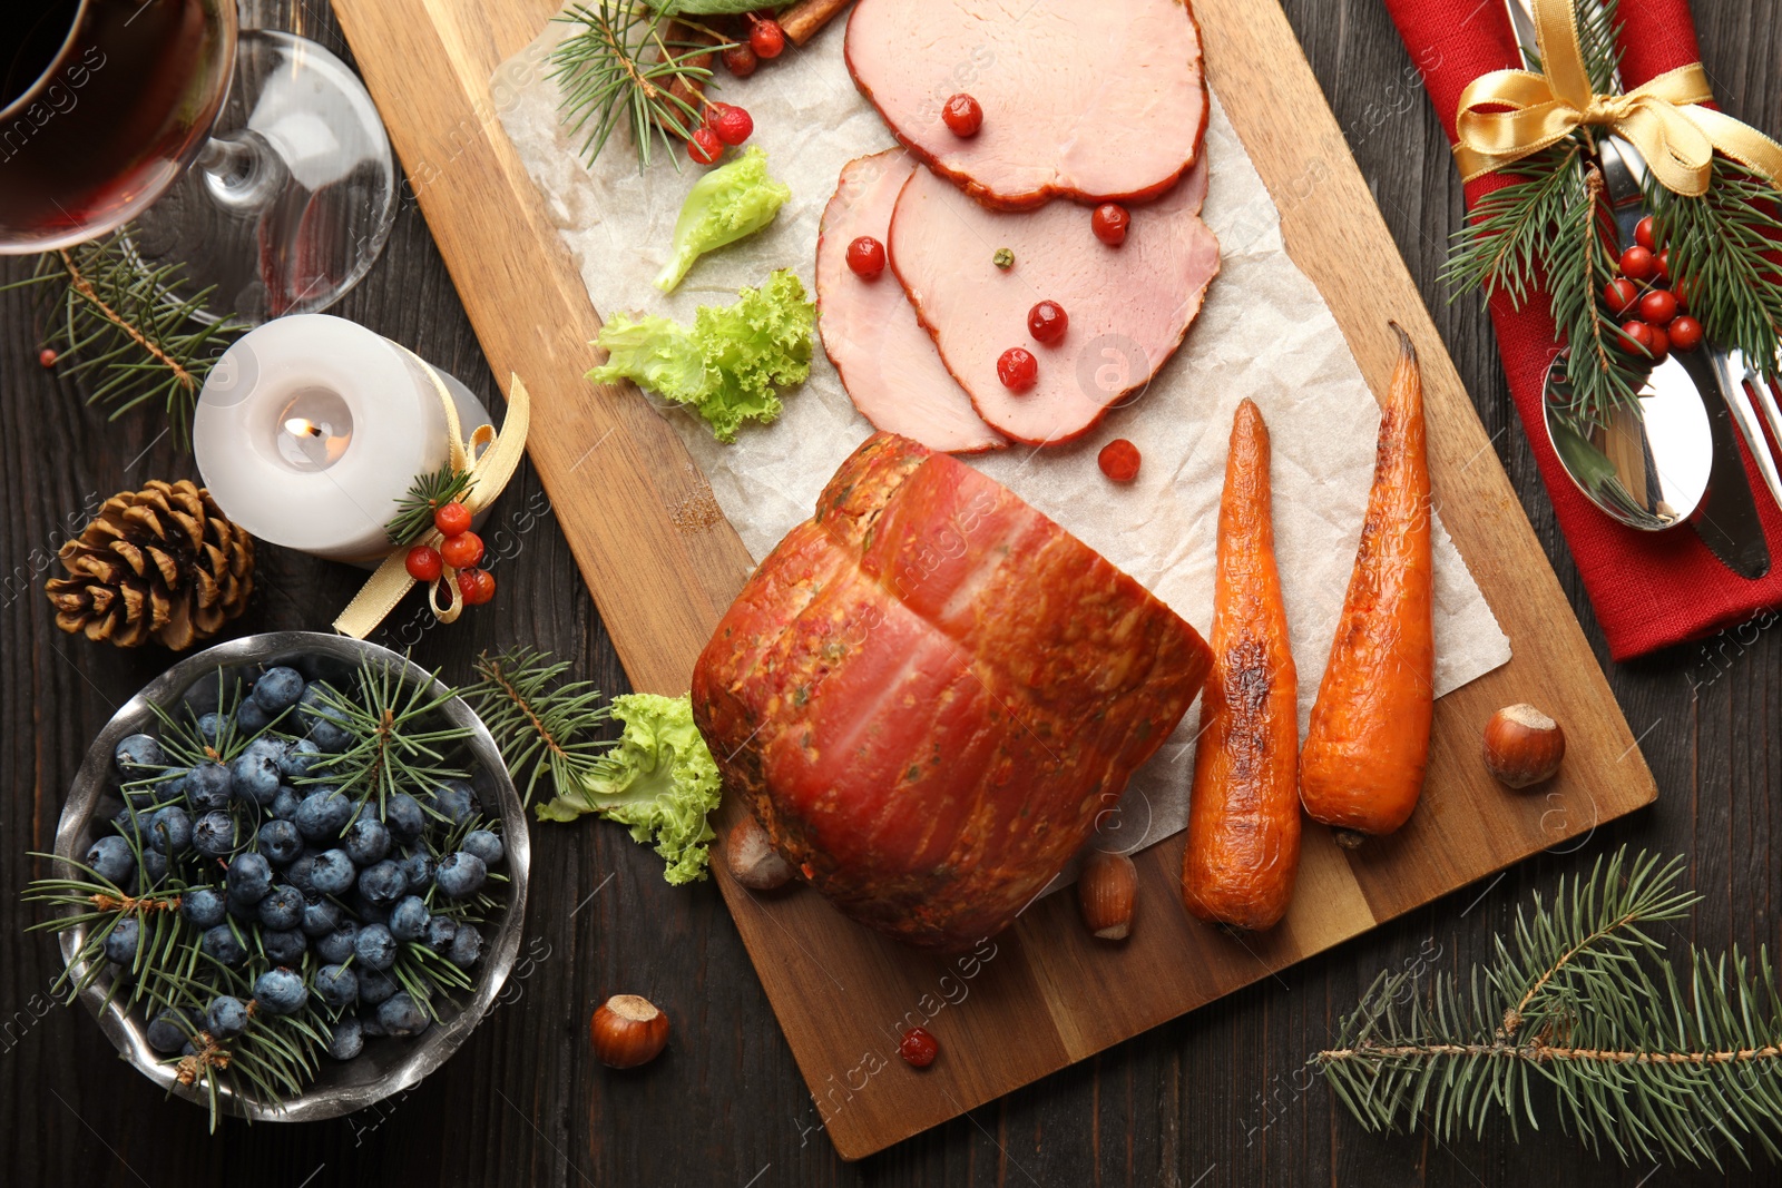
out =
<path fill-rule="evenodd" d="M 100 732 L 55 835 L 68 990 L 169 1094 L 319 1120 L 444 1063 L 513 967 L 526 814 L 435 675 L 315 632 L 180 661 Z"/>

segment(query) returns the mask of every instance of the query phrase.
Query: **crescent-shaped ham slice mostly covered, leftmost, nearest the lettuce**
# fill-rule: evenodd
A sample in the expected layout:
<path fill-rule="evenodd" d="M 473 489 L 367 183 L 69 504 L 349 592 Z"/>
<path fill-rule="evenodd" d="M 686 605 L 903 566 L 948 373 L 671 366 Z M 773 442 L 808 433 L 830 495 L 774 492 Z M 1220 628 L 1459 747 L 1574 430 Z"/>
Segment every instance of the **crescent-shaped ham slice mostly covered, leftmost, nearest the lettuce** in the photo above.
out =
<path fill-rule="evenodd" d="M 843 166 L 816 240 L 823 349 L 875 429 L 948 454 L 1001 449 L 1009 440 L 971 411 L 971 397 L 946 372 L 896 276 L 886 269 L 862 280 L 848 267 L 848 244 L 857 237 L 889 240 L 891 208 L 918 167 L 900 148 Z"/>

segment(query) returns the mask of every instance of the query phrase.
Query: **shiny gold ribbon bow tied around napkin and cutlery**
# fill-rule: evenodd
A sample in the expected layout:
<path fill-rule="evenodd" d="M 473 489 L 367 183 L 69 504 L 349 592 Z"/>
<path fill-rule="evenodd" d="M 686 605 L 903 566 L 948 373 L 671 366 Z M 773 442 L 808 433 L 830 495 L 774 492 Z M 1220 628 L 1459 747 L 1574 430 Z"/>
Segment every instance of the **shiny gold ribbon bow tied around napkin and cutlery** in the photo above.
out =
<path fill-rule="evenodd" d="M 1700 62 L 1679 66 L 1627 94 L 1597 94 L 1577 41 L 1572 0 L 1534 0 L 1541 68 L 1495 69 L 1459 96 L 1454 157 L 1465 180 L 1554 144 L 1579 125 L 1606 125 L 1647 159 L 1666 189 L 1707 192 L 1714 150 L 1782 189 L 1782 144 L 1721 112 Z"/>

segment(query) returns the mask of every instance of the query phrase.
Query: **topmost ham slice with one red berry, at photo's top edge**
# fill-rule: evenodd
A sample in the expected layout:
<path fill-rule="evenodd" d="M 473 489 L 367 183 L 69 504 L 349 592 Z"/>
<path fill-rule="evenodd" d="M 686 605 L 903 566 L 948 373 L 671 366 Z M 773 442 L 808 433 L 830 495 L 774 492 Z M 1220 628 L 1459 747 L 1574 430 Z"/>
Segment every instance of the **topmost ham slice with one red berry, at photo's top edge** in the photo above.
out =
<path fill-rule="evenodd" d="M 1142 201 L 1198 160 L 1201 34 L 1183 0 L 861 0 L 848 69 L 891 132 L 978 201 Z M 971 137 L 952 94 L 984 109 Z"/>

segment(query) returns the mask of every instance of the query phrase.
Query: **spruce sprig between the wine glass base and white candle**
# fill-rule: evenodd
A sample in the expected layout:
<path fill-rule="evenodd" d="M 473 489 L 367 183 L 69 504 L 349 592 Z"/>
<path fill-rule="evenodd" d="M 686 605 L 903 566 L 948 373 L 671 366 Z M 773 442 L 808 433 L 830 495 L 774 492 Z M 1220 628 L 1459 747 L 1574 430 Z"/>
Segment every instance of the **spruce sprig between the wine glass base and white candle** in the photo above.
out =
<path fill-rule="evenodd" d="M 210 308 L 214 287 L 185 296 L 182 273 L 178 264 L 144 264 L 125 226 L 41 255 L 27 280 L 0 292 L 39 289 L 46 342 L 68 362 L 66 376 L 93 379 L 87 403 L 110 408 L 112 420 L 160 406 L 184 451 L 210 367 L 248 326 Z"/>

